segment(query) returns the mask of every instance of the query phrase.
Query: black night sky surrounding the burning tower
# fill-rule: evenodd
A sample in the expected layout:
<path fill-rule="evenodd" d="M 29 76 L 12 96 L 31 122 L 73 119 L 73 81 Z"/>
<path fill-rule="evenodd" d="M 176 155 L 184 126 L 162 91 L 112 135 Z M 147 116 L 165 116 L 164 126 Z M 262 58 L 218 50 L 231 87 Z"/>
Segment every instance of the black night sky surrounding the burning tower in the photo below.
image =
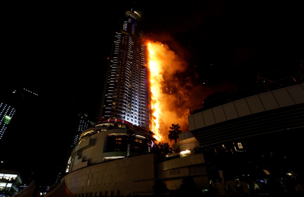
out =
<path fill-rule="evenodd" d="M 146 36 L 188 62 L 178 78 L 206 88 L 192 106 L 227 84 L 235 91 L 252 86 L 259 73 L 277 80 L 274 70 L 301 72 L 299 1 L 166 2 L 50 5 L 47 15 L 44 6 L 5 7 L 2 86 L 31 89 L 39 100 L 20 107 L 16 125 L 0 140 L 1 168 L 16 169 L 25 182 L 31 172 L 55 181 L 54 172 L 65 167 L 77 113 L 89 113 L 92 121 L 97 116 L 112 36 L 131 7 L 142 15 Z"/>

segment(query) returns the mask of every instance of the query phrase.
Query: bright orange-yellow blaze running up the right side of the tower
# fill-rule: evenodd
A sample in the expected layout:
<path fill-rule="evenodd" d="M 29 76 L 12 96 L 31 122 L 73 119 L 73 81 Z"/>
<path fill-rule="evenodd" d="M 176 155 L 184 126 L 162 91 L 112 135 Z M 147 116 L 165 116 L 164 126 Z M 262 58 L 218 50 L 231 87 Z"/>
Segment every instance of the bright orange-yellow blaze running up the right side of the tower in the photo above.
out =
<path fill-rule="evenodd" d="M 179 106 L 184 110 L 182 113 L 176 108 L 176 104 L 181 99 L 188 100 L 188 96 L 180 89 L 179 80 L 174 78 L 175 73 L 185 70 L 186 64 L 166 44 L 149 41 L 147 48 L 152 112 L 150 130 L 155 133 L 157 142 L 170 143 L 168 131 L 172 124 L 179 124 L 183 131 L 188 131 L 188 106 Z"/>

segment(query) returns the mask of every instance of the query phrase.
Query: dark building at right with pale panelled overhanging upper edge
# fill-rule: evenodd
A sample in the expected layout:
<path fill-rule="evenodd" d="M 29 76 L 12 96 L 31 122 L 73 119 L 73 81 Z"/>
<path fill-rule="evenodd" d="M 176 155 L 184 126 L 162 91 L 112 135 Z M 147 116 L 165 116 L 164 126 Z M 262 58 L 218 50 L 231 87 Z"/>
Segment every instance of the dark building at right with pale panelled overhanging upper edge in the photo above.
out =
<path fill-rule="evenodd" d="M 299 134 L 304 130 L 304 84 L 295 76 L 287 79 L 287 86 L 265 83 L 190 108 L 189 128 L 211 183 L 219 177 L 225 182 L 243 179 L 252 192 L 277 192 L 303 178 Z"/>

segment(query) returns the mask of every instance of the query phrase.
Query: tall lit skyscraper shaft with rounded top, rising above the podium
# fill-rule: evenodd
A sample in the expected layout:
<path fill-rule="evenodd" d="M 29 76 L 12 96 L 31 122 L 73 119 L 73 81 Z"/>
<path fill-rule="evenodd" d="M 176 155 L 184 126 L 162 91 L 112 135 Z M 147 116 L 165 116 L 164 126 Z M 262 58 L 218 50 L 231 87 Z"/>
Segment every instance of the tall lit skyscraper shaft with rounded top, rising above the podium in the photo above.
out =
<path fill-rule="evenodd" d="M 149 129 L 148 82 L 140 15 L 127 11 L 115 33 L 99 117 Z"/>

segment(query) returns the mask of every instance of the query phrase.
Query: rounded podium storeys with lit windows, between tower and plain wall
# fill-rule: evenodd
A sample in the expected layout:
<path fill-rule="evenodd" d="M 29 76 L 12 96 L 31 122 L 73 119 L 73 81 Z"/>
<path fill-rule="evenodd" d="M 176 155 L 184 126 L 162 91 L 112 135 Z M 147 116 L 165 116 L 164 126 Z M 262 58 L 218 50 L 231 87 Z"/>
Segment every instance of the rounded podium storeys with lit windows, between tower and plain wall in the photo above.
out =
<path fill-rule="evenodd" d="M 136 126 L 135 126 L 136 127 Z M 129 134 L 129 132 L 132 132 Z M 147 132 L 124 120 L 95 123 L 81 132 L 71 151 L 66 172 L 117 158 L 146 153 Z M 132 139 L 131 139 L 132 138 Z M 132 142 L 130 142 L 132 141 Z"/>

